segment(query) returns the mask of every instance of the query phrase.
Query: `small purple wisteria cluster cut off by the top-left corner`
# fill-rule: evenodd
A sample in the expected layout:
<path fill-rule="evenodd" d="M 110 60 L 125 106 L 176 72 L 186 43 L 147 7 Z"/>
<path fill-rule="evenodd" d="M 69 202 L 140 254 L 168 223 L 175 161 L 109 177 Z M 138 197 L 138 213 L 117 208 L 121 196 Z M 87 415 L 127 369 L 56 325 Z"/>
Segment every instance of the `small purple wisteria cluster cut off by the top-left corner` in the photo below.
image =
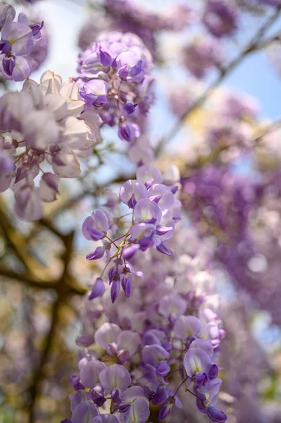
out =
<path fill-rule="evenodd" d="M 28 55 L 41 39 L 44 22 L 32 23 L 25 13 L 15 19 L 15 8 L 11 4 L 0 4 L 0 71 L 7 80 L 22 81 L 30 76 L 32 66 Z"/>

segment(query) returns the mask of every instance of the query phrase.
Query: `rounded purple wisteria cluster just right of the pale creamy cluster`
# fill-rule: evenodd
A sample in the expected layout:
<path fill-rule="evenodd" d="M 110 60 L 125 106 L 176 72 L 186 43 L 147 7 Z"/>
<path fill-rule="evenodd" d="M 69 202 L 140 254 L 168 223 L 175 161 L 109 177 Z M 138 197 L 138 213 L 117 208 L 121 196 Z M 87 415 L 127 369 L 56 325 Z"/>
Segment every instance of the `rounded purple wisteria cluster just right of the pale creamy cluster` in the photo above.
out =
<path fill-rule="evenodd" d="M 134 34 L 104 32 L 79 56 L 77 83 L 85 109 L 96 111 L 105 125 L 131 142 L 140 135 L 138 121 L 154 99 L 149 50 Z"/>

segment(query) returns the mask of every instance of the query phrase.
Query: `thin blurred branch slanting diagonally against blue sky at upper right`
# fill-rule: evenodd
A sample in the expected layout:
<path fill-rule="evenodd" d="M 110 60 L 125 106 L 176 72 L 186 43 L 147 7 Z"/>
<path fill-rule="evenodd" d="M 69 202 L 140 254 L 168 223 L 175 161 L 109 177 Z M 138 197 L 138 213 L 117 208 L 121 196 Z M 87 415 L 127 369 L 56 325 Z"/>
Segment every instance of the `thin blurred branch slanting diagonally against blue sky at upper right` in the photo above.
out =
<path fill-rule="evenodd" d="M 158 145 L 155 149 L 155 154 L 156 156 L 158 156 L 159 154 L 161 154 L 163 147 L 166 145 L 167 142 L 169 142 L 170 140 L 173 139 L 173 137 L 175 137 L 175 135 L 177 135 L 177 133 L 180 131 L 180 129 L 182 128 L 182 125 L 185 121 L 185 119 L 187 118 L 187 116 L 189 116 L 189 114 L 194 111 L 195 109 L 197 109 L 198 107 L 203 106 L 203 104 L 206 102 L 206 100 L 208 99 L 208 97 L 213 93 L 214 90 L 216 90 L 216 88 L 221 84 L 221 82 L 223 82 L 223 80 L 225 80 L 225 78 L 240 64 L 242 63 L 242 61 L 244 60 L 244 58 L 248 55 L 251 54 L 252 52 L 256 51 L 259 48 L 259 43 L 261 42 L 261 38 L 263 37 L 263 35 L 265 35 L 265 33 L 268 31 L 268 29 L 270 28 L 271 25 L 273 25 L 273 23 L 275 23 L 275 20 L 277 20 L 277 18 L 280 16 L 280 12 L 281 12 L 281 6 L 278 6 L 278 8 L 276 9 L 276 12 L 270 16 L 268 18 L 268 20 L 266 20 L 266 22 L 261 26 L 261 28 L 258 30 L 258 32 L 256 32 L 256 34 L 254 35 L 254 37 L 251 38 L 250 42 L 248 44 L 246 44 L 246 47 L 244 47 L 244 49 L 240 52 L 240 54 L 234 59 L 232 60 L 228 66 L 224 69 L 222 69 L 220 71 L 220 74 L 218 75 L 218 78 L 216 78 L 216 80 L 213 82 L 213 84 L 207 88 L 207 90 L 204 92 L 204 94 L 202 94 L 201 97 L 199 97 L 199 99 L 196 100 L 196 102 L 194 102 L 193 106 L 190 107 L 188 110 L 186 110 L 182 116 L 180 116 L 180 118 L 178 119 L 177 123 L 175 124 L 174 128 L 172 130 L 170 130 L 170 132 L 168 133 L 168 135 L 166 135 L 165 137 L 163 137 L 159 142 Z"/>

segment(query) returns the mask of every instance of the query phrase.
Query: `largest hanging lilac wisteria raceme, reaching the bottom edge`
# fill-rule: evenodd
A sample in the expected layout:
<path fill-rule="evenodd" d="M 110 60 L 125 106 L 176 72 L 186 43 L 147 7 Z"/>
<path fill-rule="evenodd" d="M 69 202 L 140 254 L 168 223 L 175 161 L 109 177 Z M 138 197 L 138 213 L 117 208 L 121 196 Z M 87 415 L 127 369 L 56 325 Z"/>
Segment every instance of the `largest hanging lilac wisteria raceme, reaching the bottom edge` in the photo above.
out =
<path fill-rule="evenodd" d="M 96 229 L 106 231 L 104 216 L 94 218 L 99 221 Z M 182 226 L 173 240 L 183 255 L 163 261 L 155 250 L 145 257 L 135 254 L 134 265 L 145 264 L 147 274 L 130 298 L 120 293 L 111 305 L 111 289 L 96 280 L 94 289 L 101 288 L 104 295 L 91 300 L 92 290 L 85 298 L 83 332 L 77 338 L 83 348 L 78 371 L 69 379 L 75 391 L 70 396 L 72 417 L 64 422 L 150 422 L 155 421 L 151 408 L 157 421 L 171 412 L 180 421 L 177 409 L 187 400 L 194 400 L 211 421 L 226 421 L 216 405 L 221 384 L 217 362 L 225 333 L 216 295 L 207 294 L 200 283 L 199 275 L 204 281 L 211 275 L 200 268 L 200 256 L 194 266 L 185 255 L 191 241 L 187 233 Z"/>

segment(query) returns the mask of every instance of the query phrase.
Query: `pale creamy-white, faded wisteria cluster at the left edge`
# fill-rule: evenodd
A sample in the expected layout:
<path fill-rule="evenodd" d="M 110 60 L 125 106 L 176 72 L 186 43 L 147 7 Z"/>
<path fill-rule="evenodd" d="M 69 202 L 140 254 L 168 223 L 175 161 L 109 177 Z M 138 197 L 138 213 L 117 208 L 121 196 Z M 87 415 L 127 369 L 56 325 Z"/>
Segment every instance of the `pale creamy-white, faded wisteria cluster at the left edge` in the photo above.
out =
<path fill-rule="evenodd" d="M 40 84 L 27 79 L 21 92 L 0 98 L 0 192 L 13 190 L 21 219 L 40 219 L 43 202 L 56 200 L 60 178 L 78 176 L 78 157 L 88 157 L 99 142 L 99 117 L 90 111 L 81 115 L 84 104 L 77 84 L 62 83 L 51 71 Z M 46 162 L 50 171 L 42 169 Z"/>

